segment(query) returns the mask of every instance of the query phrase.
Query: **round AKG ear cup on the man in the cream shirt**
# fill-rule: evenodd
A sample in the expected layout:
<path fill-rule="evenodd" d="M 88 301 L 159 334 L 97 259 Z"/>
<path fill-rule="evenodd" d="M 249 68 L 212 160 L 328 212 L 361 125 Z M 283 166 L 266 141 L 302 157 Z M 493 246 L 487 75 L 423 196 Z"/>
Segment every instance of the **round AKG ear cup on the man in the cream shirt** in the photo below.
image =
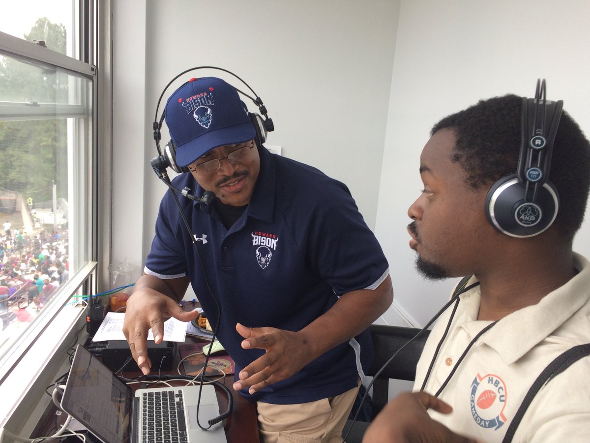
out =
<path fill-rule="evenodd" d="M 535 203 L 525 201 L 525 186 L 516 174 L 494 183 L 486 195 L 484 210 L 491 226 L 511 237 L 532 237 L 542 233 L 555 220 L 559 196 L 547 181 L 537 191 Z"/>

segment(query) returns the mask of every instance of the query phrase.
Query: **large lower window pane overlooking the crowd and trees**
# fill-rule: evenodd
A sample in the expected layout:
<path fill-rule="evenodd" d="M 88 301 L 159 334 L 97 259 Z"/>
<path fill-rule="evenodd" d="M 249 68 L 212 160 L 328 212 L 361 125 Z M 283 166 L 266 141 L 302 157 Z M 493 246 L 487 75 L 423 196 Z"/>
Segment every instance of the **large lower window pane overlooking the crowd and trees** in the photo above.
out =
<path fill-rule="evenodd" d="M 89 262 L 92 81 L 0 53 L 0 356 Z"/>

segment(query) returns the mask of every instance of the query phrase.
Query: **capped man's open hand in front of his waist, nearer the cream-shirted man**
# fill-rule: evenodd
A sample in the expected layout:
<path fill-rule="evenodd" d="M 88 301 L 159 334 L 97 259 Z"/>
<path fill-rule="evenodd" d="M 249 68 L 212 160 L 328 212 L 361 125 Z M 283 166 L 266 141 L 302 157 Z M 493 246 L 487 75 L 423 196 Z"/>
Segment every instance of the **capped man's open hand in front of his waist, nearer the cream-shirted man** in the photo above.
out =
<path fill-rule="evenodd" d="M 238 323 L 235 327 L 245 338 L 242 348 L 261 348 L 266 353 L 248 364 L 240 372 L 234 389 L 250 386 L 253 394 L 264 386 L 288 379 L 313 360 L 309 344 L 303 334 L 276 328 L 247 328 Z"/>

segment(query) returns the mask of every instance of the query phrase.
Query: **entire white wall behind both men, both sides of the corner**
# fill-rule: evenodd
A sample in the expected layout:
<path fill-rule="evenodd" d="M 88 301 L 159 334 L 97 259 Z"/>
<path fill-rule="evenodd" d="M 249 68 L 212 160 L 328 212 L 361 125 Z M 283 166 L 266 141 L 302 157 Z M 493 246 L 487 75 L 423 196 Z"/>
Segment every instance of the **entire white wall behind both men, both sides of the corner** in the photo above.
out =
<path fill-rule="evenodd" d="M 113 261 L 143 266 L 165 192 L 149 168 L 155 103 L 191 66 L 240 75 L 275 122 L 268 143 L 349 185 L 390 263 L 395 301 L 380 323 L 424 325 L 454 283 L 414 271 L 405 230 L 435 122 L 481 98 L 530 96 L 545 77 L 549 99 L 590 134 L 590 2 L 126 0 L 113 10 Z M 590 256 L 589 223 L 575 248 Z"/>

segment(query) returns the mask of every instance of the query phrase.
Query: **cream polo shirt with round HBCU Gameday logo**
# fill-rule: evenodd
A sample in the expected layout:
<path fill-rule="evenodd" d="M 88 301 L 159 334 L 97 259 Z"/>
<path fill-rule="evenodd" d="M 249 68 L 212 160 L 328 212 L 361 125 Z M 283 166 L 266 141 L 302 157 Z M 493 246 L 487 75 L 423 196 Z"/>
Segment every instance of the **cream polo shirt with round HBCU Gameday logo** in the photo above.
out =
<path fill-rule="evenodd" d="M 461 435 L 502 441 L 514 413 L 536 377 L 559 354 L 590 343 L 590 266 L 575 254 L 579 273 L 536 305 L 513 312 L 481 335 L 468 350 L 439 398 L 453 406 L 432 418 Z M 475 282 L 472 278 L 469 284 Z M 425 392 L 434 394 L 454 369 L 470 341 L 490 321 L 477 321 L 480 287 L 460 295 Z M 417 367 L 414 390 L 422 386 L 453 307 L 437 321 Z M 590 357 L 573 363 L 542 387 L 513 441 L 590 441 Z"/>

